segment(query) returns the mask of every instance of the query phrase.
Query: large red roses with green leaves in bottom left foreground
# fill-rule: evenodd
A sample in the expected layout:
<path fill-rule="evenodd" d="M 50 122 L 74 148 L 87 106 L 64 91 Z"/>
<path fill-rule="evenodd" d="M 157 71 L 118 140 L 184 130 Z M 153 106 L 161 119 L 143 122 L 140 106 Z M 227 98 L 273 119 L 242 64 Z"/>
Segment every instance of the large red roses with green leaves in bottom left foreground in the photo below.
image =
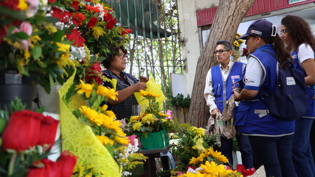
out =
<path fill-rule="evenodd" d="M 57 161 L 47 159 L 59 120 L 24 108 L 16 98 L 10 112 L 0 110 L 1 125 L 6 125 L 0 129 L 0 176 L 71 177 L 76 156 L 64 151 Z"/>

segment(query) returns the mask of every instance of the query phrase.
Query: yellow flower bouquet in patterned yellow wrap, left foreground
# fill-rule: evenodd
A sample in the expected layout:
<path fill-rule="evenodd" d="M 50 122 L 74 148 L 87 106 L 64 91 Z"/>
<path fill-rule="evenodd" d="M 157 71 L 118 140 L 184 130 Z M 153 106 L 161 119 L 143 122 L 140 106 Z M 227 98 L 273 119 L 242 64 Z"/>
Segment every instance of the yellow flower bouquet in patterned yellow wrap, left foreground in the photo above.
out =
<path fill-rule="evenodd" d="M 87 165 L 96 165 L 96 169 L 103 171 L 106 177 L 130 175 L 128 173 L 130 169 L 137 164 L 143 163 L 137 160 L 145 160 L 146 157 L 135 153 L 138 149 L 129 144 L 126 134 L 120 127 L 121 122 L 116 120 L 116 116 L 112 111 L 107 110 L 107 105 L 101 106 L 103 101 L 117 99 L 116 95 L 118 93 L 115 93 L 114 89 L 108 89 L 99 85 L 95 80 L 93 84 L 84 83 L 83 80 L 80 80 L 80 82 L 76 86 L 72 84 L 63 98 L 65 105 L 68 105 L 73 110 L 74 116 L 72 115 L 71 118 L 77 119 L 64 119 L 63 117 L 66 116 L 62 114 L 62 122 L 64 121 L 62 125 L 70 129 L 77 126 L 79 129 L 78 133 L 80 135 L 83 134 L 84 138 L 73 136 L 73 133 L 68 128 L 62 127 L 64 135 L 72 138 L 64 147 L 69 147 L 69 144 L 73 144 L 76 148 L 73 148 L 71 145 L 71 150 L 75 154 L 79 154 L 79 161 Z M 70 83 L 70 81 L 67 82 L 67 84 Z M 81 102 L 83 101 L 86 104 L 78 104 L 80 98 L 76 98 L 78 96 L 76 93 L 79 94 Z M 72 97 L 73 95 L 74 97 Z M 93 143 L 90 142 L 91 140 Z M 119 167 L 119 171 L 115 170 L 117 167 Z M 107 168 L 114 170 L 106 171 Z M 120 174 L 117 174 L 117 172 L 120 172 Z"/>

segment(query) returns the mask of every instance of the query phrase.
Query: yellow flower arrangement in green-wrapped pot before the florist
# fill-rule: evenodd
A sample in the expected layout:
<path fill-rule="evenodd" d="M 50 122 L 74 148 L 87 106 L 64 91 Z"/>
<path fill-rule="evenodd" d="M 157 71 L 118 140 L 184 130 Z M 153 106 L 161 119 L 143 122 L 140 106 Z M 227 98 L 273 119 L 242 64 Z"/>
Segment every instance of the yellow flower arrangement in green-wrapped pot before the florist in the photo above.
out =
<path fill-rule="evenodd" d="M 176 129 L 174 126 L 176 123 L 170 115 L 164 114 L 159 108 L 156 98 L 161 95 L 143 90 L 140 92 L 140 96 L 148 100 L 147 109 L 144 113 L 140 113 L 140 116 L 131 117 L 125 126 L 125 131 L 129 135 L 137 135 L 143 149 L 166 148 L 169 146 L 168 131 Z"/>

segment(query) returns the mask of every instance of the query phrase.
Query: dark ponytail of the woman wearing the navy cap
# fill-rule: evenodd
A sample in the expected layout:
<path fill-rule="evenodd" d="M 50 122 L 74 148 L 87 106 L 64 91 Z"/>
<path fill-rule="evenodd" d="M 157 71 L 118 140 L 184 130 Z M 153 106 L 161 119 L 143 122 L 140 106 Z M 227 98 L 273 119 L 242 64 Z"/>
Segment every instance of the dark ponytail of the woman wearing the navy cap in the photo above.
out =
<path fill-rule="evenodd" d="M 279 59 L 280 68 L 282 68 L 283 64 L 289 59 L 293 61 L 290 53 L 285 50 L 284 42 L 278 34 L 276 34 L 275 37 L 272 37 L 271 39 L 264 39 L 264 42 L 266 44 L 273 44 L 273 49 Z"/>

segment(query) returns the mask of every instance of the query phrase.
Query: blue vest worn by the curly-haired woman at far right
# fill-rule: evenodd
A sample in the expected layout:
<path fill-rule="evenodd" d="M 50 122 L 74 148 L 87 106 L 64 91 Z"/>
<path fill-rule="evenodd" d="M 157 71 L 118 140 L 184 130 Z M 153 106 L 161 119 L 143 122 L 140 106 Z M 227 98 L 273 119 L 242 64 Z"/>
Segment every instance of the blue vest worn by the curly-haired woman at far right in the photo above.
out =
<path fill-rule="evenodd" d="M 294 68 L 302 71 L 304 73 L 304 76 L 306 77 L 306 72 L 304 71 L 302 64 L 298 61 L 297 58 L 297 49 L 299 46 L 297 46 L 296 50 L 294 50 L 291 54 L 291 57 L 294 60 Z M 314 118 L 315 117 L 315 99 L 312 99 L 314 96 L 314 89 L 315 85 L 308 85 L 306 86 L 306 92 L 308 94 L 307 98 L 307 110 L 305 113 L 305 116 L 303 118 Z"/>

